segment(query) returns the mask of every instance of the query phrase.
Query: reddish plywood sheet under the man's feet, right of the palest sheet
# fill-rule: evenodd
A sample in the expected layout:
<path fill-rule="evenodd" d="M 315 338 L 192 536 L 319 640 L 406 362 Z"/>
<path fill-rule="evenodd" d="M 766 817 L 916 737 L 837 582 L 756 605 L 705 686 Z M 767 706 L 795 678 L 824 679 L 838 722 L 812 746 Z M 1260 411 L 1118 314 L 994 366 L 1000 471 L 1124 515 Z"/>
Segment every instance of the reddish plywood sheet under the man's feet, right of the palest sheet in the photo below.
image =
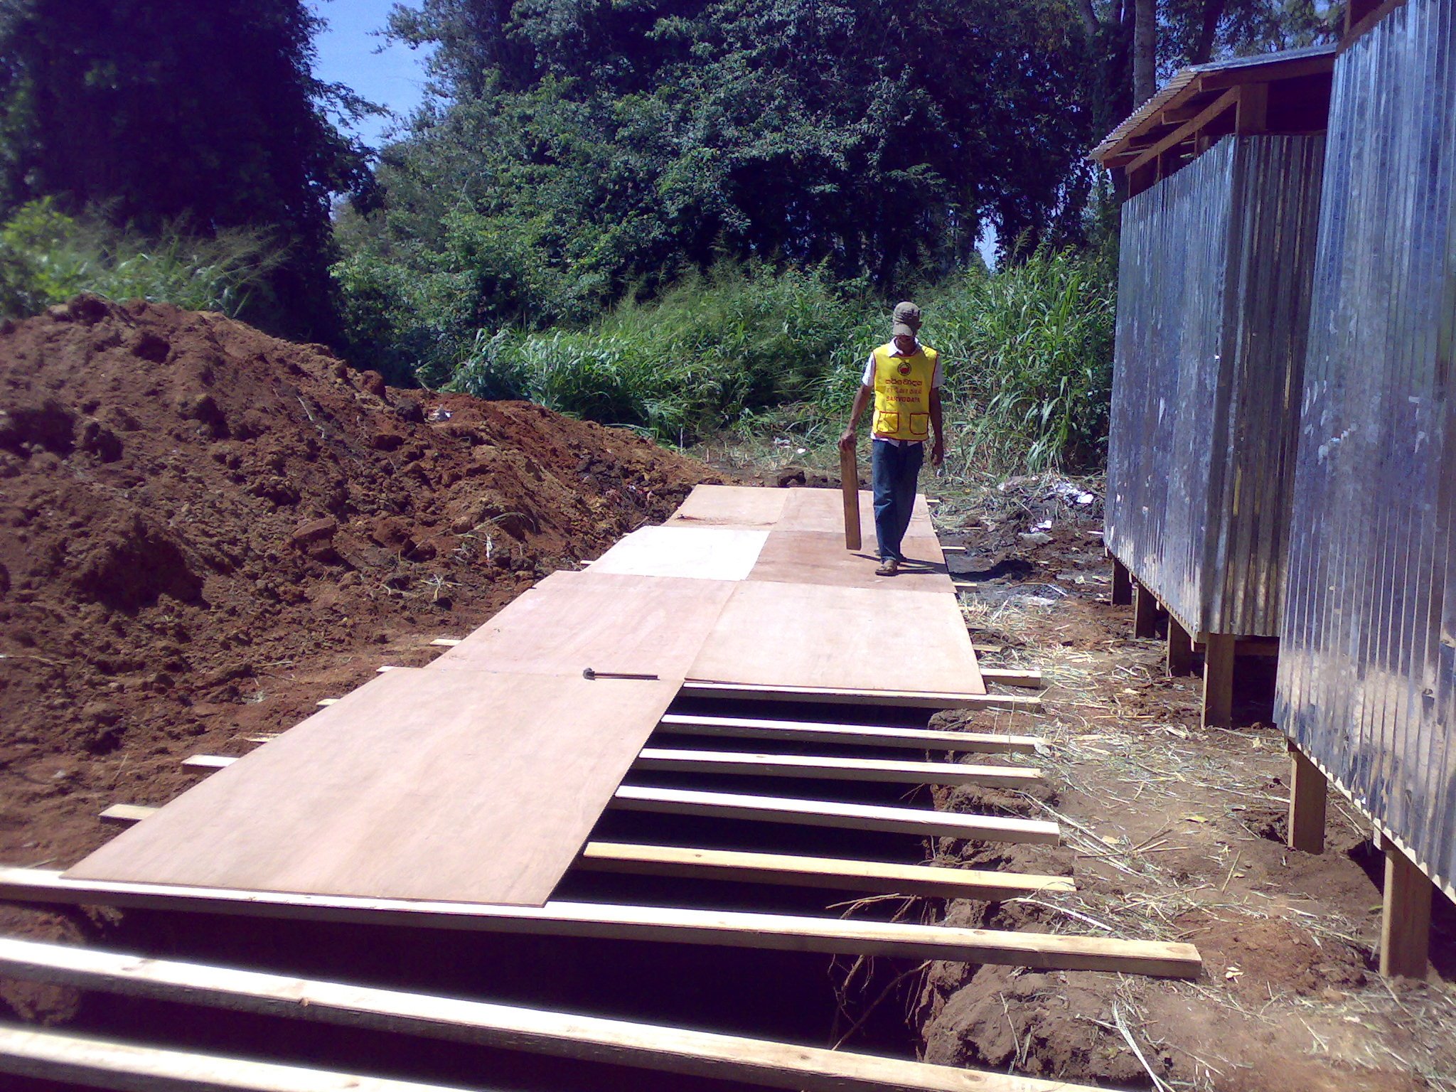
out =
<path fill-rule="evenodd" d="M 836 531 L 772 531 L 748 579 L 779 584 L 824 584 L 842 588 L 885 591 L 942 591 L 954 594 L 945 555 L 935 539 L 906 539 L 906 565 L 894 577 L 877 577 L 879 559 L 874 539 L 858 552 L 844 549 Z"/>

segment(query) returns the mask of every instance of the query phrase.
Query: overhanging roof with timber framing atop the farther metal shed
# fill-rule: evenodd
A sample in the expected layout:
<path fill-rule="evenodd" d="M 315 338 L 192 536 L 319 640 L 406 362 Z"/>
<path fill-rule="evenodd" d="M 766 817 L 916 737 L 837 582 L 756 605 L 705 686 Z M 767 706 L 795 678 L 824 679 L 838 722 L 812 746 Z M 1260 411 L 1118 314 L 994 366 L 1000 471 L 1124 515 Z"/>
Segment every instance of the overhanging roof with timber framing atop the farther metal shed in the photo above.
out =
<path fill-rule="evenodd" d="M 1184 68 L 1089 159 L 1125 179 L 1125 195 L 1136 197 L 1230 132 L 1324 132 L 1335 52 L 1322 45 Z"/>

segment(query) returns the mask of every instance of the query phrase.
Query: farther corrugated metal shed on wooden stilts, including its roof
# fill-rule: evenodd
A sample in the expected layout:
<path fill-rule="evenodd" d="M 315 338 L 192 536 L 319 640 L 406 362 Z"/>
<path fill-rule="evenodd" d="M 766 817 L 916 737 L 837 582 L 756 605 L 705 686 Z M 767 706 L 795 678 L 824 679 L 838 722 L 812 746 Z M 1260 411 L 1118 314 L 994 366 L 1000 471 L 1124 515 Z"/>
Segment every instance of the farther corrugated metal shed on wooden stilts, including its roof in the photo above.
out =
<path fill-rule="evenodd" d="M 1093 153 L 1133 192 L 1105 540 L 1139 636 L 1168 614 L 1169 671 L 1204 644 L 1208 724 L 1232 722 L 1236 657 L 1278 635 L 1332 66 L 1185 70 Z"/>

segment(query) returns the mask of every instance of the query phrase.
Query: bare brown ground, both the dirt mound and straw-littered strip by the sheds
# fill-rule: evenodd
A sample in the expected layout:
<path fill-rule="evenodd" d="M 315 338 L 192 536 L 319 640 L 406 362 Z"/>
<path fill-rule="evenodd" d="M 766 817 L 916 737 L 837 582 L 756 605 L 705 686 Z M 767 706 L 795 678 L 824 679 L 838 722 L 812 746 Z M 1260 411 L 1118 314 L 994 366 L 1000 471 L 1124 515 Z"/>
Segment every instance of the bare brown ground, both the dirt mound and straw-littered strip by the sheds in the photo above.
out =
<path fill-rule="evenodd" d="M 381 664 L 427 662 L 432 638 L 469 632 L 542 575 L 660 521 L 695 482 L 745 478 L 536 406 L 389 390 L 317 347 L 215 316 L 95 300 L 0 328 L 0 862 L 12 865 L 70 865 L 111 836 L 96 818 L 106 805 L 163 804 L 195 783 L 179 766 L 189 754 L 240 754 Z M 767 478 L 836 483 L 795 467 Z M 1380 980 L 1367 823 L 1332 798 L 1325 855 L 1284 847 L 1280 734 L 1267 716 L 1201 728 L 1198 680 L 1166 678 L 1160 644 L 1131 638 L 1130 609 L 1107 603 L 1098 483 L 925 485 L 945 498 L 942 540 L 967 547 L 951 568 L 977 585 L 962 604 L 976 644 L 996 649 L 984 662 L 1040 667 L 1050 683 L 1035 718 L 949 719 L 1044 737 L 1032 811 L 1064 830 L 1057 849 L 946 843 L 939 856 L 1070 874 L 1079 891 L 846 913 L 1191 941 L 1206 976 L 840 967 L 844 1012 L 826 1016 L 820 1042 L 1112 1088 L 1456 1089 L 1450 906 L 1437 898 L 1430 980 Z M 1258 708 L 1251 695 L 1246 711 Z M 1026 796 L 1002 789 L 938 802 L 1028 814 Z M 253 948 L 294 958 L 317 939 L 262 923 L 166 929 L 181 954 L 233 962 Z M 127 936 L 112 913 L 19 907 L 0 907 L 0 932 Z M 409 962 L 415 989 L 460 974 L 448 936 L 408 960 L 380 948 L 354 938 L 309 958 L 332 977 Z M 836 983 L 810 962 L 744 957 L 741 981 L 692 987 L 721 994 L 731 1021 L 737 1006 L 775 1009 L 745 983 L 818 976 L 782 1006 L 801 1019 L 785 1035 L 812 1038 L 799 1002 Z M 579 980 L 610 1003 L 692 967 L 582 964 Z M 0 981 L 0 1016 L 68 1025 L 77 1012 L 71 990 Z"/>

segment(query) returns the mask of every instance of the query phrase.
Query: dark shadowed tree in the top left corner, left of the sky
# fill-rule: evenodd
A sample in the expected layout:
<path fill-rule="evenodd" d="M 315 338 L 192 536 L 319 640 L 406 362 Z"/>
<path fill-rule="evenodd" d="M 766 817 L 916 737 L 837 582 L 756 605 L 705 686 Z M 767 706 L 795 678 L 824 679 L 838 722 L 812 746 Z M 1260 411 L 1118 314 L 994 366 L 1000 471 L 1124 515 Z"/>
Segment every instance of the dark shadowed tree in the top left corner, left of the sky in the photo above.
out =
<path fill-rule="evenodd" d="M 0 213 L 52 197 L 140 232 L 272 232 L 291 333 L 331 332 L 331 194 L 365 178 L 300 0 L 0 0 Z"/>

